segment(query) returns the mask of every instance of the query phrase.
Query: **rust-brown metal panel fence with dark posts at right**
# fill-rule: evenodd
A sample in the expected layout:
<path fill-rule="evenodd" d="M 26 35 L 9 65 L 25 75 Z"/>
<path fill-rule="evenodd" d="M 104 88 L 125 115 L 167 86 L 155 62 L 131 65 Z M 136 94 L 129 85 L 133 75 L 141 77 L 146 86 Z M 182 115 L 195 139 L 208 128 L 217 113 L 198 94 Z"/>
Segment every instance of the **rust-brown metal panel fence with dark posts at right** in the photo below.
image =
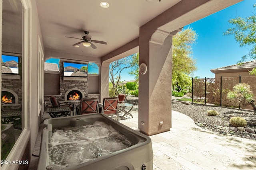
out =
<path fill-rule="evenodd" d="M 256 97 L 256 76 L 192 79 L 192 103 L 202 102 L 217 106 L 239 107 L 227 98 L 228 92 L 238 83 L 247 83 Z M 251 106 L 245 109 L 252 109 Z"/>

